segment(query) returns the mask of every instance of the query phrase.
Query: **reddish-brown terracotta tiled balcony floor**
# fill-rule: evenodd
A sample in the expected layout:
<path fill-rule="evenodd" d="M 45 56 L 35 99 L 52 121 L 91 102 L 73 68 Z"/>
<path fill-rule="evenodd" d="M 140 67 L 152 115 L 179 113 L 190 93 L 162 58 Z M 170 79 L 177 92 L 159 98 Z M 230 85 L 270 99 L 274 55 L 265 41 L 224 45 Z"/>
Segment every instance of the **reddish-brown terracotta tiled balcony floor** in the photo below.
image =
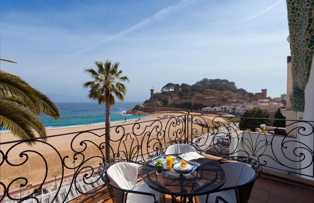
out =
<path fill-rule="evenodd" d="M 106 203 L 111 203 L 111 200 Z M 171 202 L 166 196 L 166 203 Z M 296 186 L 281 181 L 259 177 L 251 192 L 249 203 L 313 203 L 314 189 Z"/>

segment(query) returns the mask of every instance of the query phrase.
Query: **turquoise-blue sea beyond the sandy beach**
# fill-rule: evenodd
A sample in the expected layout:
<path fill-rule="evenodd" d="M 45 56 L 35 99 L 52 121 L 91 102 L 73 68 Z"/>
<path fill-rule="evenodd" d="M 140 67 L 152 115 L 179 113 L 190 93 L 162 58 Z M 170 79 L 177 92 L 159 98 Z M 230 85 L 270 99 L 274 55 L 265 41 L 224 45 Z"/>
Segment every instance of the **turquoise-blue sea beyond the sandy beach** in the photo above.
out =
<path fill-rule="evenodd" d="M 142 102 L 116 102 L 111 106 L 111 122 L 121 122 L 126 120 L 149 117 L 149 115 L 123 114 L 127 109 L 133 108 Z M 47 115 L 39 116 L 46 129 L 63 128 L 72 126 L 83 126 L 89 124 L 100 124 L 106 122 L 105 105 L 99 106 L 97 102 L 71 102 L 56 103 L 60 109 L 61 117 L 55 121 Z"/>

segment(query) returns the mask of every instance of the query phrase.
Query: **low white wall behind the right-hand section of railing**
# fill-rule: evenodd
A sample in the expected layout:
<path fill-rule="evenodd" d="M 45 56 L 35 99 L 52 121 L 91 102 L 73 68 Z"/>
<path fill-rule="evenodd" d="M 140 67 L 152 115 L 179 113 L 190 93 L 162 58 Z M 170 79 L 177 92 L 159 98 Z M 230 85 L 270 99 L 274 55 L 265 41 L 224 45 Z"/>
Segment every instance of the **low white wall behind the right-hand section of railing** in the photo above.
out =
<path fill-rule="evenodd" d="M 295 162 L 299 160 L 299 157 L 296 155 L 298 155 L 301 152 L 301 149 L 298 148 L 299 145 L 297 142 L 297 138 L 293 137 L 284 138 L 284 136 L 281 135 L 273 136 L 270 134 L 246 131 L 239 134 L 239 137 L 242 137 L 242 141 L 239 142 L 236 151 L 240 152 L 237 152 L 235 155 L 230 156 L 250 156 L 253 159 L 258 160 L 262 164 L 266 163 L 266 165 L 263 166 L 264 168 L 273 167 L 291 172 L 300 172 L 297 170 L 297 168 L 300 168 L 300 164 L 303 164 L 303 166 L 305 167 L 311 163 L 310 160 Z M 268 144 L 266 144 L 266 141 L 268 142 Z M 237 143 L 238 138 L 231 139 L 229 146 L 230 152 L 234 151 L 234 149 L 237 146 Z M 282 147 L 282 144 L 284 145 L 284 147 L 287 148 Z M 246 152 L 248 152 L 248 154 Z M 308 151 L 303 151 L 303 153 L 305 153 L 305 157 L 311 158 L 311 153 L 309 153 Z M 263 156 L 260 156 L 262 154 Z M 269 169 L 279 171 L 282 173 L 288 173 L 273 168 Z M 310 170 L 302 171 L 302 173 L 311 175 Z"/>

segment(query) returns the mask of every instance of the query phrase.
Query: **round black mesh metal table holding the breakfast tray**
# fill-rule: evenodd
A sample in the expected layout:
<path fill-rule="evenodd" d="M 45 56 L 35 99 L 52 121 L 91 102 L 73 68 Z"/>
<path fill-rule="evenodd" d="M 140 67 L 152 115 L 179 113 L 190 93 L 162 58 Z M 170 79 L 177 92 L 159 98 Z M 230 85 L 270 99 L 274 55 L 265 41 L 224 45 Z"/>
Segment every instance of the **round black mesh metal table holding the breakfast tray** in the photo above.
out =
<path fill-rule="evenodd" d="M 151 162 L 151 161 L 150 161 Z M 200 166 L 190 175 L 172 170 L 164 170 L 160 175 L 156 174 L 155 168 L 147 162 L 141 169 L 141 177 L 150 188 L 172 196 L 172 202 L 176 197 L 183 197 L 183 202 L 192 202 L 192 198 L 215 192 L 226 181 L 224 169 L 219 163 L 203 158 L 193 160 Z"/>

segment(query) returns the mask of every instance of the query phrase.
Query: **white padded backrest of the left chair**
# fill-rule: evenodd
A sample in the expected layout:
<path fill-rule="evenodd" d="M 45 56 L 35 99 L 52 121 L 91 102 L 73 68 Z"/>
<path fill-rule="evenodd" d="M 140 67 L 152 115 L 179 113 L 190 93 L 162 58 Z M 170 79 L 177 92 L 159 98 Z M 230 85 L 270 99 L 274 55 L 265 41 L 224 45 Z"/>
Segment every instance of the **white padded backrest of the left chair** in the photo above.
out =
<path fill-rule="evenodd" d="M 132 162 L 119 162 L 107 169 L 111 184 L 117 188 L 132 190 L 137 183 L 138 165 Z"/>

